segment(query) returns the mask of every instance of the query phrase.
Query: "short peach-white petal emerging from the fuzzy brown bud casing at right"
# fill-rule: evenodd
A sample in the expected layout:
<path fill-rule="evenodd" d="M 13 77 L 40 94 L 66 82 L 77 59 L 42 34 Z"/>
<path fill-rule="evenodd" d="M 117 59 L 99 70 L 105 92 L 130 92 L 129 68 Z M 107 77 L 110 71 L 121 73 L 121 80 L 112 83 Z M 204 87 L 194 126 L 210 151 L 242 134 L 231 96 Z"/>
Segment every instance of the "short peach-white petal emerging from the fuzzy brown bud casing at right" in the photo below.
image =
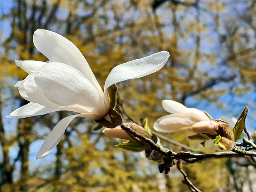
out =
<path fill-rule="evenodd" d="M 218 126 L 218 122 L 215 121 L 201 121 L 192 125 L 192 131 L 194 133 L 216 135 L 217 132 L 214 129 L 216 125 Z"/>

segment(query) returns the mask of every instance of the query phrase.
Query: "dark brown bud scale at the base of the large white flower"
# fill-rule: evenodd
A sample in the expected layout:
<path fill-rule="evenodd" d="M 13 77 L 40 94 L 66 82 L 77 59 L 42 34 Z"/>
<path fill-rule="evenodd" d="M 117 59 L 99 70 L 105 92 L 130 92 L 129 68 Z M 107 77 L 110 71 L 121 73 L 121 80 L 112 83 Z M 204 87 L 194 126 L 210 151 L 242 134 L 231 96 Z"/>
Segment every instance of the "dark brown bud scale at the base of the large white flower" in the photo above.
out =
<path fill-rule="evenodd" d="M 108 115 L 112 122 L 108 122 L 108 120 L 105 119 L 104 117 L 102 119 L 95 120 L 95 122 L 107 128 L 115 128 L 118 125 L 122 125 L 122 117 L 115 110 L 110 108 L 108 111 Z"/>

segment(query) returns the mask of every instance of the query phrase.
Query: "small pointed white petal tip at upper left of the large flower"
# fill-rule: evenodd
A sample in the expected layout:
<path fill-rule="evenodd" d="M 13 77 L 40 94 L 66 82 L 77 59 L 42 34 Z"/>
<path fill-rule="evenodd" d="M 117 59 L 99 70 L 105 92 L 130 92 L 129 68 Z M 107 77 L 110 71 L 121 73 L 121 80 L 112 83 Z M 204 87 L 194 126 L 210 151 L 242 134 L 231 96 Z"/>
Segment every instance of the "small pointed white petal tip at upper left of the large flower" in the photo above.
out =
<path fill-rule="evenodd" d="M 16 59 L 15 63 L 18 67 L 20 67 L 29 74 L 37 72 L 45 64 L 45 62 L 42 61 L 18 61 Z"/>

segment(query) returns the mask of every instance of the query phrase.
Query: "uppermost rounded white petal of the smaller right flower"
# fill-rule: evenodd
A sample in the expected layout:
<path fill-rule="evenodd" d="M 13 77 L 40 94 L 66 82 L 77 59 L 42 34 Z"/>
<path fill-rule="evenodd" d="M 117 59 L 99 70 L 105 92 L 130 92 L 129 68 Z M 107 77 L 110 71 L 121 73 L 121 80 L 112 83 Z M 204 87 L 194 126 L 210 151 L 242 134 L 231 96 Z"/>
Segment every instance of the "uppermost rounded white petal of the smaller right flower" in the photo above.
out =
<path fill-rule="evenodd" d="M 187 113 L 188 112 L 188 108 L 186 108 L 181 103 L 175 102 L 173 100 L 163 100 L 162 105 L 164 110 L 169 113 Z"/>

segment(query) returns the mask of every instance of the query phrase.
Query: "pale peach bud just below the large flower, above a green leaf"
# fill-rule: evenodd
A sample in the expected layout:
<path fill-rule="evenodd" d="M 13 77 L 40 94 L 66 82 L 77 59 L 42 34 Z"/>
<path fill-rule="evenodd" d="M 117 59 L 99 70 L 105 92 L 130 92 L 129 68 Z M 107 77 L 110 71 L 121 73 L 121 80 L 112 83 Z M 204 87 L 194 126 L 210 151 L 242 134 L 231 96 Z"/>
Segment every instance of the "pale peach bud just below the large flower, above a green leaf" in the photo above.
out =
<path fill-rule="evenodd" d="M 117 126 L 116 128 L 105 128 L 102 131 L 103 134 L 108 135 L 109 137 L 115 137 L 119 139 L 129 140 L 132 142 L 135 142 L 134 139 L 132 139 L 125 130 L 122 130 L 120 126 Z"/>

